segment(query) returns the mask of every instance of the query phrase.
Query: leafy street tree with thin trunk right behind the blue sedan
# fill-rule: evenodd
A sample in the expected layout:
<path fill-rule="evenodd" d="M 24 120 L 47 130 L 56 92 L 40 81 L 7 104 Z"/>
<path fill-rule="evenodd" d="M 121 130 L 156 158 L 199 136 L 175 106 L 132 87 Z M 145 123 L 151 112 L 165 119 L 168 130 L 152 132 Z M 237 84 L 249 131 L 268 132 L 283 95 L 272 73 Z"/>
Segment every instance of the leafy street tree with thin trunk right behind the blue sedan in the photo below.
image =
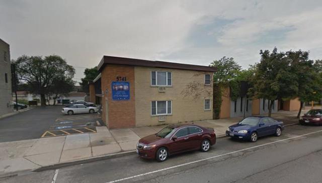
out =
<path fill-rule="evenodd" d="M 261 60 L 255 65 L 254 86 L 250 93 L 257 98 L 269 100 L 268 116 L 271 116 L 275 100 L 296 97 L 297 76 L 290 67 L 292 61 L 287 58 L 287 54 L 278 53 L 277 48 L 272 53 L 261 50 L 260 54 Z"/>

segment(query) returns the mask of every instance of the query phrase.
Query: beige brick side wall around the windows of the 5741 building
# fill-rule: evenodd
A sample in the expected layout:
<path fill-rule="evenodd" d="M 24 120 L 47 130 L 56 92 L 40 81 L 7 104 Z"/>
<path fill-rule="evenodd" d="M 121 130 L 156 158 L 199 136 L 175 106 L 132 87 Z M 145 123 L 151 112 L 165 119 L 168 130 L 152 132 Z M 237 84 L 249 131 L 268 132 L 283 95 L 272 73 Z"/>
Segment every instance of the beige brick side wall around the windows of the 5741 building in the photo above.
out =
<path fill-rule="evenodd" d="M 151 86 L 151 71 L 172 72 L 172 87 L 166 92 L 158 92 L 158 87 Z M 135 67 L 135 119 L 136 126 L 157 125 L 212 119 L 212 85 L 204 85 L 204 74 L 211 72 L 179 69 Z M 211 81 L 212 83 L 212 81 Z M 187 86 L 197 86 L 197 95 L 188 93 Z M 211 110 L 204 110 L 204 99 L 210 99 Z M 165 122 L 159 122 L 158 116 L 151 116 L 151 101 L 172 100 L 172 115 Z"/>

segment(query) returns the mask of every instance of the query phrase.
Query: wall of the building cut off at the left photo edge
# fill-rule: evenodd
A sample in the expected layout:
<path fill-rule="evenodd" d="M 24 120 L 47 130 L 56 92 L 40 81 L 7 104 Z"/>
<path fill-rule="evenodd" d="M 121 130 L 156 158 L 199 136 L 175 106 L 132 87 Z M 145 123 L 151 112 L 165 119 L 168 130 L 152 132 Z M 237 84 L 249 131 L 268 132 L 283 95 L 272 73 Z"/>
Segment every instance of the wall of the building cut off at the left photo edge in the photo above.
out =
<path fill-rule="evenodd" d="M 10 46 L 0 39 L 0 116 L 12 112 L 12 104 Z"/>

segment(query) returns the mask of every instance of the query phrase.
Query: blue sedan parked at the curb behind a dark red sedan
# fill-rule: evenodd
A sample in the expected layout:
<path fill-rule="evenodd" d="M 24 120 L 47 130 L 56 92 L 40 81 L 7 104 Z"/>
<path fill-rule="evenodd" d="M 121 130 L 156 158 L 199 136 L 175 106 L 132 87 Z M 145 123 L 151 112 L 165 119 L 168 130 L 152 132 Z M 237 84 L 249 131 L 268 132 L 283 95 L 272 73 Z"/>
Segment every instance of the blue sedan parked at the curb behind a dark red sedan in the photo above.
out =
<path fill-rule="evenodd" d="M 250 116 L 229 126 L 226 136 L 256 142 L 258 137 L 273 135 L 281 136 L 284 124 L 271 117 Z"/>

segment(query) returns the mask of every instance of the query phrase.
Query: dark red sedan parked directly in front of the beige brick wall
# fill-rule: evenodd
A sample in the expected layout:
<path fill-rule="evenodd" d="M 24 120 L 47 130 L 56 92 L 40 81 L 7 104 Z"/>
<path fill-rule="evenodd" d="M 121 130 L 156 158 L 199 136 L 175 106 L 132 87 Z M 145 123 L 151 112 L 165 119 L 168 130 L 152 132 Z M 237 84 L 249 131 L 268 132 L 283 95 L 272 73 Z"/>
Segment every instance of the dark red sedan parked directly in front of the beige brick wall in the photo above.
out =
<path fill-rule="evenodd" d="M 216 143 L 216 134 L 212 128 L 198 125 L 169 125 L 159 132 L 141 138 L 136 152 L 143 158 L 165 161 L 169 155 L 180 152 L 209 150 Z"/>

